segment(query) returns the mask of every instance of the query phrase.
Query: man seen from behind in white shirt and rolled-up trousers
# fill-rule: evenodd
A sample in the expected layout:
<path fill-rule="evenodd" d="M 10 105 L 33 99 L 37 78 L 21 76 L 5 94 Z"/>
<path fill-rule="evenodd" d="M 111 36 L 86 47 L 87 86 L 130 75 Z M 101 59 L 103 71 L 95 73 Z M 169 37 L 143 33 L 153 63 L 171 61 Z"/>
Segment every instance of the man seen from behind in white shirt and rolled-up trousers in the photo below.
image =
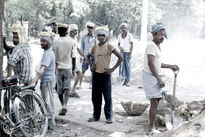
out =
<path fill-rule="evenodd" d="M 62 105 L 59 115 L 65 115 L 67 113 L 72 71 L 75 71 L 76 52 L 73 42 L 66 37 L 67 29 L 67 24 L 58 24 L 60 37 L 53 42 L 53 50 L 56 57 L 57 93 Z"/>

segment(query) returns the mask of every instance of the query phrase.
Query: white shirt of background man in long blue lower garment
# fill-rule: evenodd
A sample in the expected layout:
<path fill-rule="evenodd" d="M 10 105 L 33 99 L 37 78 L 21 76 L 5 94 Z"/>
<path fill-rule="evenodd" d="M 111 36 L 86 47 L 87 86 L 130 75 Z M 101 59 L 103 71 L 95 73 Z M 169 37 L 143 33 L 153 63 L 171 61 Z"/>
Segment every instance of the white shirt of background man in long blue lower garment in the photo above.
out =
<path fill-rule="evenodd" d="M 120 43 L 120 47 L 123 49 L 122 52 L 130 52 L 130 42 L 133 42 L 133 36 L 128 32 L 127 36 L 122 38 L 122 34 L 120 34 L 118 36 L 118 42 Z"/>

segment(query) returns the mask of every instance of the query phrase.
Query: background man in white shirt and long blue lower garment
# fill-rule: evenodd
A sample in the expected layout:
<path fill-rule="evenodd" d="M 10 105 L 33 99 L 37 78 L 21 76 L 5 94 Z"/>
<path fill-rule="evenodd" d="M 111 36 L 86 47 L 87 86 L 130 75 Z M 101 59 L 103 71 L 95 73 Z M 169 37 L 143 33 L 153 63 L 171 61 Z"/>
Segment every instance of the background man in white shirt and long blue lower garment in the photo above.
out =
<path fill-rule="evenodd" d="M 120 25 L 121 34 L 118 36 L 118 47 L 120 49 L 121 55 L 123 57 L 122 72 L 120 75 L 125 78 L 123 85 L 129 86 L 129 80 L 131 75 L 131 64 L 130 59 L 133 50 L 133 37 L 132 34 L 128 32 L 127 23 L 122 23 Z M 122 74 L 121 74 L 122 73 Z"/>

